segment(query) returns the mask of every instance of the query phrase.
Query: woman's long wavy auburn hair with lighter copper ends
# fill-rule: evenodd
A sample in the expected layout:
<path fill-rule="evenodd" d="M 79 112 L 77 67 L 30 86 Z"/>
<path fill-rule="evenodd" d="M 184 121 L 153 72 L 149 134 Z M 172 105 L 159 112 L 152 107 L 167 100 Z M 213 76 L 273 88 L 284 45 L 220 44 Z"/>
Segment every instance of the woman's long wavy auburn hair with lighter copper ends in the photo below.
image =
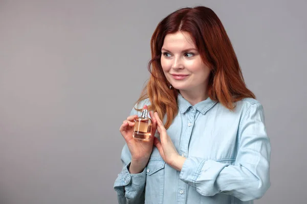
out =
<path fill-rule="evenodd" d="M 217 15 L 207 7 L 182 8 L 162 19 L 150 40 L 151 60 L 148 63 L 149 80 L 144 86 L 137 104 L 149 98 L 149 110 L 158 112 L 160 118 L 167 115 L 168 129 L 178 114 L 178 90 L 169 88 L 161 66 L 161 48 L 167 34 L 178 31 L 190 34 L 202 61 L 211 69 L 208 95 L 233 111 L 234 103 L 255 95 L 246 87 L 229 37 Z M 137 109 L 141 110 L 141 109 Z"/>

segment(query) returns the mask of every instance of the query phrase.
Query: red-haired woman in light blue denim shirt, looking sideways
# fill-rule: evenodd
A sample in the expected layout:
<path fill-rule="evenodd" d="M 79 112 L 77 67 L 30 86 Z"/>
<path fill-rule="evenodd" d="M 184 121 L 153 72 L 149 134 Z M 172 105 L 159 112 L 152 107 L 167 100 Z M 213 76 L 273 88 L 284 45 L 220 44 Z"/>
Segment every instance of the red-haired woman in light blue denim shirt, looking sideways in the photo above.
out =
<path fill-rule="evenodd" d="M 126 144 L 114 185 L 119 203 L 262 197 L 271 154 L 264 110 L 244 83 L 220 19 L 206 7 L 180 9 L 158 24 L 150 43 L 150 79 L 120 127 Z M 156 133 L 148 142 L 132 136 L 146 106 Z"/>

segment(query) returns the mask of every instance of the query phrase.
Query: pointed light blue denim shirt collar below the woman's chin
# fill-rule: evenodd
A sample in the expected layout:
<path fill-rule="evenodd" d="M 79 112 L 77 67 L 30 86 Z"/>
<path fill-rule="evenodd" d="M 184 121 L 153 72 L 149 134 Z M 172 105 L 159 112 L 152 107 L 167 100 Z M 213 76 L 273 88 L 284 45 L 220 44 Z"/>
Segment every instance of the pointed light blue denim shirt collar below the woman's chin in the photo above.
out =
<path fill-rule="evenodd" d="M 180 93 L 178 93 L 177 101 L 181 113 L 185 113 L 188 108 L 192 107 L 189 101 L 187 101 Z M 208 97 L 206 100 L 200 101 L 199 103 L 195 104 L 194 108 L 196 108 L 196 110 L 198 110 L 202 114 L 205 114 L 216 103 L 217 101 L 211 100 L 211 98 Z"/>

